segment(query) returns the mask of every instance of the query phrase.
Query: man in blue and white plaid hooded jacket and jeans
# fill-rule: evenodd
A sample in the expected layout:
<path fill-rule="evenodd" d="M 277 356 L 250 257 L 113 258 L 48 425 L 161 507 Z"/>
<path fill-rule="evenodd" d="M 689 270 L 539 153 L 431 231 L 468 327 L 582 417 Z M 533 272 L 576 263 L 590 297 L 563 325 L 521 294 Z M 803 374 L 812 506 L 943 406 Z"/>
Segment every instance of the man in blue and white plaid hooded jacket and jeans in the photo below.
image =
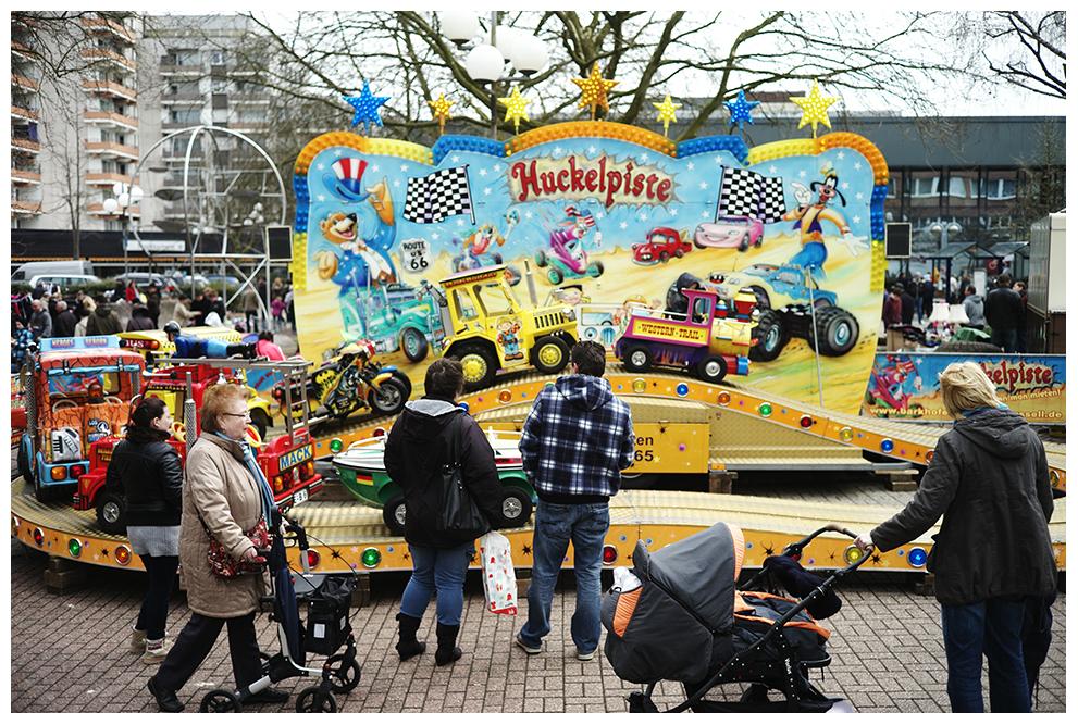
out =
<path fill-rule="evenodd" d="M 616 398 L 598 342 L 578 342 L 570 374 L 544 387 L 524 421 L 520 454 L 538 495 L 532 535 L 532 582 L 528 622 L 517 645 L 529 654 L 543 649 L 550 632 L 550 604 L 561 563 L 573 547 L 577 610 L 571 633 L 577 659 L 591 660 L 599 643 L 603 541 L 610 527 L 608 501 L 621 486 L 621 471 L 633 460 L 633 422 L 628 403 Z"/>

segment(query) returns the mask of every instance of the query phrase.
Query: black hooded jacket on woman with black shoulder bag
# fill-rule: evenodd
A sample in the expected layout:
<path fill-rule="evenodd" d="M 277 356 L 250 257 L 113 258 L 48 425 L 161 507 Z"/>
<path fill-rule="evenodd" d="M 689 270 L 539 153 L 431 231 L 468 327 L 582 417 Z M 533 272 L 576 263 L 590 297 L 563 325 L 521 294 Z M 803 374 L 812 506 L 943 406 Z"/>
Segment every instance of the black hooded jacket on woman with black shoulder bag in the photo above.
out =
<path fill-rule="evenodd" d="M 438 533 L 437 517 L 442 504 L 442 468 L 449 462 L 453 422 L 458 415 L 461 420 L 457 458 L 461 477 L 491 525 L 483 530 L 450 536 Z M 408 543 L 434 549 L 456 548 L 505 523 L 494 449 L 479 423 L 451 400 L 426 396 L 408 401 L 389 429 L 384 461 L 385 472 L 405 492 L 408 512 L 405 540 Z"/>

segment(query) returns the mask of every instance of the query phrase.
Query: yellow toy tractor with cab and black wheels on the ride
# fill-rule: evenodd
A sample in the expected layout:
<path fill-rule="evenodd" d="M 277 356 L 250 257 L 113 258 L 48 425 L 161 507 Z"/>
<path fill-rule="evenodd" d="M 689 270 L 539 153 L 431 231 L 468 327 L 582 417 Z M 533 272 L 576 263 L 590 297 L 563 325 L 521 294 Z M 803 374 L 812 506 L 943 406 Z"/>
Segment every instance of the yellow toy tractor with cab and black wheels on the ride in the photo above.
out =
<path fill-rule="evenodd" d="M 503 370 L 559 373 L 575 343 L 577 315 L 567 304 L 529 308 L 513 291 L 504 264 L 458 272 L 438 284 L 447 330 L 443 354 L 460 360 L 464 390 L 494 383 Z"/>

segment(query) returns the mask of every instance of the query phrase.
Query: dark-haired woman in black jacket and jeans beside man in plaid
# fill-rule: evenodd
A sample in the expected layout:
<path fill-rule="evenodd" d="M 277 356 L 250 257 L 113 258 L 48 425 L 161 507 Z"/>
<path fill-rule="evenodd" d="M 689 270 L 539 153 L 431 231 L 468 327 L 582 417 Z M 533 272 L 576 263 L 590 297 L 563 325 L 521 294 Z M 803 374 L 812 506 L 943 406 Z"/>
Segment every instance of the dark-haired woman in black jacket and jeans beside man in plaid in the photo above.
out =
<path fill-rule="evenodd" d="M 394 423 L 385 443 L 385 471 L 405 490 L 405 540 L 412 558 L 412 575 L 400 598 L 397 652 L 407 660 L 426 650 L 416 639 L 420 621 L 437 591 L 438 666 L 461 657 L 457 647 L 464 608 L 464 574 L 475 553 L 475 539 L 503 524 L 501 484 L 494 449 L 479 424 L 457 405 L 464 388 L 460 361 L 442 358 L 426 368 L 426 395 L 409 401 Z M 458 422 L 459 418 L 459 422 Z M 442 470 L 449 461 L 454 430 L 457 459 L 468 492 L 488 525 L 457 536 L 437 530 L 442 503 Z"/>

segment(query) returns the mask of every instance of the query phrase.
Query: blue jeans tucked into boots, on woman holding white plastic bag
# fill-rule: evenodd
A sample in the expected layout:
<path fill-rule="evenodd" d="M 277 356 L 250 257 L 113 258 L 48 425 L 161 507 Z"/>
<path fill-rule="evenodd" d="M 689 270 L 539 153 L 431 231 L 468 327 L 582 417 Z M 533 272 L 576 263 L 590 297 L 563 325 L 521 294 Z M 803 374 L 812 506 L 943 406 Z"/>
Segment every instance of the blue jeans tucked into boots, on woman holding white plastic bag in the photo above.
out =
<path fill-rule="evenodd" d="M 460 624 L 464 611 L 464 575 L 475 553 L 475 542 L 467 541 L 453 549 L 434 549 L 408 545 L 412 557 L 412 575 L 400 597 L 400 613 L 423 618 L 431 597 L 438 592 L 437 620 L 444 625 Z"/>

